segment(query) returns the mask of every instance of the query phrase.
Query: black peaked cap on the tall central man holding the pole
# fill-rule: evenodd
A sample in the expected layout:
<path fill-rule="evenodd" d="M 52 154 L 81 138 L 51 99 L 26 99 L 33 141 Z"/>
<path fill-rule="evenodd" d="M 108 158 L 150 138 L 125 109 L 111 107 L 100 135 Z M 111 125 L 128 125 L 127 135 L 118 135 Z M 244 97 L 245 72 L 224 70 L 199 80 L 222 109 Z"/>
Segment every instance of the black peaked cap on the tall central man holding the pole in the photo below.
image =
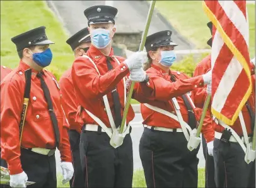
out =
<path fill-rule="evenodd" d="M 112 6 L 91 6 L 84 11 L 84 16 L 88 19 L 88 25 L 95 23 L 115 24 L 115 15 L 117 15 L 117 9 Z"/>

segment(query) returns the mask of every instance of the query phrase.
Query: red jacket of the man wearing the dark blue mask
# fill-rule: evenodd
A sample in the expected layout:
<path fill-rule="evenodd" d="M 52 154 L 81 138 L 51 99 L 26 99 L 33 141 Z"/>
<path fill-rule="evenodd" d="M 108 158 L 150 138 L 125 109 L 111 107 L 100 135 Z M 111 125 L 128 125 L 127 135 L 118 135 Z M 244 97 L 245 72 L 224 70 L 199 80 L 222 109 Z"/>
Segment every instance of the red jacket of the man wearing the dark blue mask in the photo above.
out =
<path fill-rule="evenodd" d="M 25 70 L 30 67 L 20 61 L 20 65 L 1 82 L 1 157 L 8 163 L 10 174 L 19 174 L 21 169 L 20 147 L 24 148 L 54 148 L 54 126 L 50 120 L 47 102 L 42 91 L 38 72 L 32 70 L 30 102 L 26 111 L 20 145 L 19 123 L 23 107 L 25 92 Z M 44 80 L 49 87 L 52 104 L 57 116 L 61 143 L 59 150 L 61 159 L 71 162 L 71 149 L 67 134 L 68 126 L 64 125 L 64 116 L 61 108 L 61 94 L 55 82 L 54 75 L 46 70 Z"/>

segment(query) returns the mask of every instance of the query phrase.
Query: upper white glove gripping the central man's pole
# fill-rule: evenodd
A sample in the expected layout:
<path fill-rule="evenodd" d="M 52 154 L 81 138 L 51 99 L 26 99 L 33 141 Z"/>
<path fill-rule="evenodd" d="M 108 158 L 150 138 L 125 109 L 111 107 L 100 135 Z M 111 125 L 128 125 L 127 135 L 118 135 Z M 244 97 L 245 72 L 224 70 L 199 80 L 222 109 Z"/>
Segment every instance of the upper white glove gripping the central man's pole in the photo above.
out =
<path fill-rule="evenodd" d="M 143 67 L 144 62 L 148 60 L 146 52 L 135 52 L 129 56 L 124 63 L 127 65 L 129 70 L 132 69 L 141 69 Z"/>

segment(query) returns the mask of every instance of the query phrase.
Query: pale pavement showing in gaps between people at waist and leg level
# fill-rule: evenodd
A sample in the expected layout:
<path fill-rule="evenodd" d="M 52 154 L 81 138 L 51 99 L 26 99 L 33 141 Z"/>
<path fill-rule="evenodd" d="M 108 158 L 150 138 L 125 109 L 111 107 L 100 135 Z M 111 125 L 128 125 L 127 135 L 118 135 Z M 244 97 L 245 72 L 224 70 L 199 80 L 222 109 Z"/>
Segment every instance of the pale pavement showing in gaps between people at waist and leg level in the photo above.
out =
<path fill-rule="evenodd" d="M 143 118 L 141 117 L 141 114 L 136 113 L 135 118 L 131 122 L 131 126 L 133 128 L 131 136 L 133 145 L 134 170 L 142 169 L 141 159 L 139 158 L 139 140 L 141 139 L 141 135 L 143 134 L 143 124 L 141 124 L 142 120 Z M 197 157 L 199 158 L 199 167 L 204 167 L 205 160 L 204 155 L 202 154 L 202 145 L 199 153 L 197 154 Z M 56 162 L 57 172 L 61 172 L 59 151 L 56 152 Z"/>

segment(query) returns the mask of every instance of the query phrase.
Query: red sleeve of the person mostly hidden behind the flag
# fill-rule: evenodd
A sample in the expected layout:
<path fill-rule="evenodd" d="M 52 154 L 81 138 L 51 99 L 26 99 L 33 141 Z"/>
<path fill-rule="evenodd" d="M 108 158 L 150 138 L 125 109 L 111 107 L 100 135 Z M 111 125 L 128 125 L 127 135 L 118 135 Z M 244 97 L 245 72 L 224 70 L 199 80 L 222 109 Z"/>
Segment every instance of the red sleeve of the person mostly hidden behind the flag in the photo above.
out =
<path fill-rule="evenodd" d="M 195 67 L 194 77 L 197 75 L 206 74 L 211 70 L 211 55 L 205 57 L 198 65 Z M 194 89 L 195 96 L 202 96 L 202 94 L 206 93 L 206 86 Z M 199 97 L 195 97 L 195 106 L 197 108 L 204 107 L 204 100 L 197 100 Z M 214 140 L 214 128 L 212 127 L 212 117 L 211 117 L 211 110 L 207 110 L 206 117 L 204 118 L 204 123 L 202 125 L 204 129 L 202 129 L 202 134 L 204 138 L 206 138 L 206 142 Z"/>

